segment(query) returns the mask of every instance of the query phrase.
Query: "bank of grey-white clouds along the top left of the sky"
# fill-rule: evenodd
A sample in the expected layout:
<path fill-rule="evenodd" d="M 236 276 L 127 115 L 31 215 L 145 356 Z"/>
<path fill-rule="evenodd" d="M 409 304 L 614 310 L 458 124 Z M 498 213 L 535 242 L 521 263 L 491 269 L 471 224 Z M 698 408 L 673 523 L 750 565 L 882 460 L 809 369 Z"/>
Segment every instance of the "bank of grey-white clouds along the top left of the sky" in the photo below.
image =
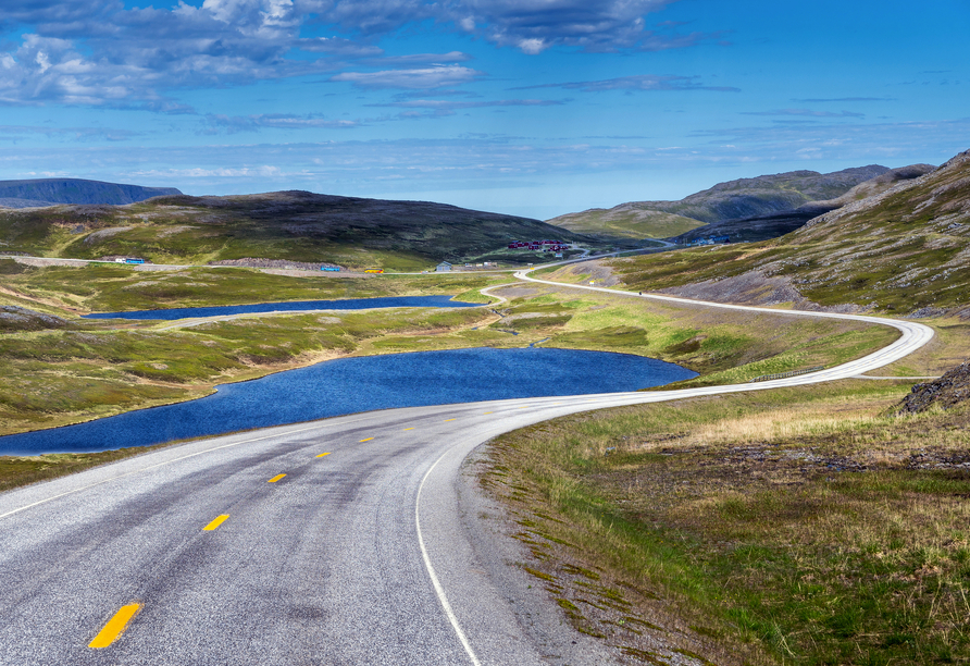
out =
<path fill-rule="evenodd" d="M 195 0 L 198 2 L 198 0 Z M 124 106 L 177 113 L 174 90 L 347 71 L 363 88 L 434 89 L 480 75 L 459 51 L 387 57 L 407 26 L 469 32 L 538 54 L 682 48 L 711 38 L 647 16 L 676 0 L 12 0 L 0 14 L 0 103 Z M 327 36 L 310 36 L 327 34 Z M 443 65 L 443 66 L 438 66 Z M 399 70 L 396 74 L 390 70 Z"/>

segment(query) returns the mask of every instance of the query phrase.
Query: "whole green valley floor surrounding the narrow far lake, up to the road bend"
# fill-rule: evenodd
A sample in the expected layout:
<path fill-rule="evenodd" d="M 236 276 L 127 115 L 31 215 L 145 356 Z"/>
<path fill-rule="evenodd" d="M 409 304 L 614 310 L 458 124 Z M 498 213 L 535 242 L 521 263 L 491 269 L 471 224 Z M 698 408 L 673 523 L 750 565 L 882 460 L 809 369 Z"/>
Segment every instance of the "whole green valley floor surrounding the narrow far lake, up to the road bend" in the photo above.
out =
<path fill-rule="evenodd" d="M 17 378 L 0 384 L 3 434 L 201 397 L 220 383 L 340 356 L 540 344 L 662 358 L 719 381 L 841 362 L 895 335 L 878 326 L 794 318 L 771 318 L 778 320 L 771 325 L 756 318 L 753 326 L 750 317 L 704 308 L 577 294 L 569 287 L 500 286 L 513 280 L 508 275 L 291 278 L 250 269 L 25 268 L 9 260 L 0 270 L 7 271 L 0 303 L 9 304 L 0 317 L 0 359 L 9 377 Z M 91 310 L 440 293 L 486 301 L 480 289 L 496 285 L 493 293 L 501 303 L 456 310 L 279 313 L 201 322 L 77 317 Z M 34 470 L 36 460 L 25 466 Z M 58 467 L 48 465 L 51 473 Z M 35 471 L 29 478 L 36 478 Z"/>

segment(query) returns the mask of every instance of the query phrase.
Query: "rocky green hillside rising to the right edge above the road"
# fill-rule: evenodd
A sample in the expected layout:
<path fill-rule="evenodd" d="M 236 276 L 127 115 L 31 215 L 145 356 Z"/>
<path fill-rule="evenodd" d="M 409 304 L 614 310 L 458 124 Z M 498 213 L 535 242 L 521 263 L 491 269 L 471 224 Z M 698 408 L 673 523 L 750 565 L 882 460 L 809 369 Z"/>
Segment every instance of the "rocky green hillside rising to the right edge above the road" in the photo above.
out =
<path fill-rule="evenodd" d="M 970 318 L 970 150 L 905 175 L 780 238 L 615 260 L 613 276 L 711 300 Z"/>

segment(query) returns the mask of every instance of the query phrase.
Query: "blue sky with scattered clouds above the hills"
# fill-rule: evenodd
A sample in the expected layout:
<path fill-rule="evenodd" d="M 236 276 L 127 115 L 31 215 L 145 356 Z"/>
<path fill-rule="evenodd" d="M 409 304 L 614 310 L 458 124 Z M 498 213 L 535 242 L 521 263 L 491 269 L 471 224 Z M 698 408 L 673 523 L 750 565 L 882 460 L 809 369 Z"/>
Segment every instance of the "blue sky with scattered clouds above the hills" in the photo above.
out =
<path fill-rule="evenodd" d="M 4 0 L 0 178 L 545 220 L 940 164 L 968 35 L 968 0 Z"/>

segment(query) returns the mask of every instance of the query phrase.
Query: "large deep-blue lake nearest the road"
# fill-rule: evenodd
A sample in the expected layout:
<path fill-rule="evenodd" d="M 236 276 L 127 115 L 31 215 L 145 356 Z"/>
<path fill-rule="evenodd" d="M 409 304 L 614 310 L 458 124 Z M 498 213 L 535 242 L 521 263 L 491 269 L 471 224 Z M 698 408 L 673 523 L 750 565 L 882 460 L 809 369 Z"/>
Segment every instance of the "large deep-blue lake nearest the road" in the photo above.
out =
<path fill-rule="evenodd" d="M 636 391 L 693 377 L 642 356 L 542 347 L 343 358 L 225 384 L 197 400 L 3 436 L 0 455 L 147 446 L 372 409 Z"/>

